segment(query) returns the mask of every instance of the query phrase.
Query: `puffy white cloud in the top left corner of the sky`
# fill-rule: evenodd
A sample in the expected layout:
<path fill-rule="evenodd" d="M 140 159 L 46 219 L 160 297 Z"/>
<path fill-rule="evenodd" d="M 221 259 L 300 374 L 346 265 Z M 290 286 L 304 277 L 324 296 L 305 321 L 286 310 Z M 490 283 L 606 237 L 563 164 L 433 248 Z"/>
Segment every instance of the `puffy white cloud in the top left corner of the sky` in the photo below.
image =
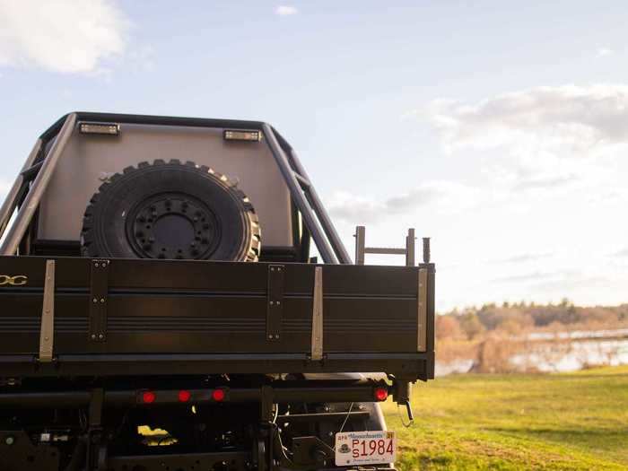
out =
<path fill-rule="evenodd" d="M 128 25 L 110 0 L 0 0 L 0 66 L 99 72 L 125 51 Z"/>

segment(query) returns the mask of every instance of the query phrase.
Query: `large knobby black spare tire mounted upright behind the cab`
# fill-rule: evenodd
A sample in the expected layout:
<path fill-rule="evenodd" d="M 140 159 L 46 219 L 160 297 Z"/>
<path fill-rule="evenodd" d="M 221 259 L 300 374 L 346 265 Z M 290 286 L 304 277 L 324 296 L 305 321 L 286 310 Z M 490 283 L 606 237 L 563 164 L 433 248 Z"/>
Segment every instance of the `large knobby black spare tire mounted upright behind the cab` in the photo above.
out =
<path fill-rule="evenodd" d="M 227 177 L 157 160 L 100 186 L 81 242 L 86 257 L 257 261 L 260 230 L 249 198 Z"/>

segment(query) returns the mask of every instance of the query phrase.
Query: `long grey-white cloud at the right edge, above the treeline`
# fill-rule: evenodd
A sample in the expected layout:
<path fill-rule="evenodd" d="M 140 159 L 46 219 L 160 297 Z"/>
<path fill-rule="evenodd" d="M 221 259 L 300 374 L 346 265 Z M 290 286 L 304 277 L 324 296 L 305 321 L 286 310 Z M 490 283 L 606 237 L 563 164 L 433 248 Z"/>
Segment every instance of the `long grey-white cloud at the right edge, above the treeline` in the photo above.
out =
<path fill-rule="evenodd" d="M 536 87 L 467 105 L 432 101 L 428 115 L 449 150 L 534 141 L 545 149 L 589 150 L 628 142 L 628 85 Z"/>

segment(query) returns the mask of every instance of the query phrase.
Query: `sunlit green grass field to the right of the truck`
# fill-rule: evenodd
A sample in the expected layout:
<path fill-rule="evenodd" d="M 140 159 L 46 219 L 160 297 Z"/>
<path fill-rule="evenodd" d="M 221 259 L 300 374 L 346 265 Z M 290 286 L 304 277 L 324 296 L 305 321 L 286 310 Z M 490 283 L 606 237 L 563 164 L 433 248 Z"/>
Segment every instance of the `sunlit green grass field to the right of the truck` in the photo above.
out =
<path fill-rule="evenodd" d="M 628 469 L 628 367 L 449 376 L 415 386 L 413 409 L 405 428 L 384 405 L 402 470 Z"/>

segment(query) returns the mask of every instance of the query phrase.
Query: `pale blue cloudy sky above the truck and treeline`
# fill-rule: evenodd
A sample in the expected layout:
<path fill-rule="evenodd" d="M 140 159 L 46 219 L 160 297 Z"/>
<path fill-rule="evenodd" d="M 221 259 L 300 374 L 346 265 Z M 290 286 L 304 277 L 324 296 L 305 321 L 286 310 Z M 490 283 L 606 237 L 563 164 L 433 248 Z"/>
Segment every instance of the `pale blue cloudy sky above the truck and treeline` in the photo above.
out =
<path fill-rule="evenodd" d="M 628 301 L 623 1 L 0 0 L 0 196 L 68 111 L 260 119 L 437 308 Z M 367 256 L 367 263 L 401 264 Z"/>

